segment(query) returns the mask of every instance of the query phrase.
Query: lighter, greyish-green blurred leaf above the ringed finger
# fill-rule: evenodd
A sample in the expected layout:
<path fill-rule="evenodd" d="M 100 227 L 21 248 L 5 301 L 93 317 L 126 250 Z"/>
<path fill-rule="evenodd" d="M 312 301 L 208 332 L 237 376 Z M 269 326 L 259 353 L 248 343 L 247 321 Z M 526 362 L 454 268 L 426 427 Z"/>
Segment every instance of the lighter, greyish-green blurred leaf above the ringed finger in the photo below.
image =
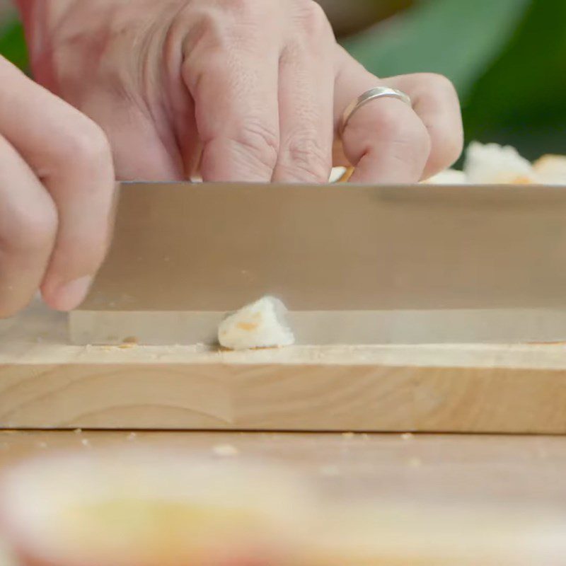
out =
<path fill-rule="evenodd" d="M 563 1 L 563 0 L 562 0 Z M 343 45 L 379 76 L 444 74 L 466 97 L 531 0 L 427 0 Z"/>

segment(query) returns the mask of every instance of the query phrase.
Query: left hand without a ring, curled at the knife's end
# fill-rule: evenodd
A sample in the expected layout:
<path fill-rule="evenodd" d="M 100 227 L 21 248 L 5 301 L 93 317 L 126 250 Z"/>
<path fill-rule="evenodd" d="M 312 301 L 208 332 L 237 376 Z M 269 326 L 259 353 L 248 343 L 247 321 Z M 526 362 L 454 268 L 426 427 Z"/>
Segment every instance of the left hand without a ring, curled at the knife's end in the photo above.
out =
<path fill-rule="evenodd" d="M 0 317 L 41 287 L 74 308 L 106 250 L 114 173 L 100 127 L 0 57 Z"/>

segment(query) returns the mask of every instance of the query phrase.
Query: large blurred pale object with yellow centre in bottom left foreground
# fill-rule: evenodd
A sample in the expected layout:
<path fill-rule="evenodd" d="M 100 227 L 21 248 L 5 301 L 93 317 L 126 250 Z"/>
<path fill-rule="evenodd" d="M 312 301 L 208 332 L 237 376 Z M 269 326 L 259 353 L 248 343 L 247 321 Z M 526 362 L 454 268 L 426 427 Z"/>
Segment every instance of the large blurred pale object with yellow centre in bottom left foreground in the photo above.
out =
<path fill-rule="evenodd" d="M 93 451 L 13 468 L 1 518 L 23 565 L 286 565 L 304 533 L 300 488 L 250 463 Z"/>

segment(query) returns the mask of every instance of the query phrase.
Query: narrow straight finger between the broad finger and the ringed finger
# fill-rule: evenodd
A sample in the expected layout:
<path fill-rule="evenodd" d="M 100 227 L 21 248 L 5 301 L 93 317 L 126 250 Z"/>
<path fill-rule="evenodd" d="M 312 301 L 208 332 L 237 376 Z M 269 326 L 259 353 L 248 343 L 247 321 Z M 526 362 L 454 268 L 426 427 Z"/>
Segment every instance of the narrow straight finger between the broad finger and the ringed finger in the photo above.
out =
<path fill-rule="evenodd" d="M 326 183 L 332 168 L 335 40 L 322 9 L 308 4 L 303 34 L 279 67 L 280 146 L 273 180 Z"/>

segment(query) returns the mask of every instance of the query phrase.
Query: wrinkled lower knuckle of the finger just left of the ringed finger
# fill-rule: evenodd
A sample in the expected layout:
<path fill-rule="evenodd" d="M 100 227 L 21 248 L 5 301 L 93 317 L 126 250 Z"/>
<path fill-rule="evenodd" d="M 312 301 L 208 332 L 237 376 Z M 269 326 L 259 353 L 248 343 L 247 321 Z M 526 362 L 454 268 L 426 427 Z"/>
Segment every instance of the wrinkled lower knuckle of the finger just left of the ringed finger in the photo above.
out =
<path fill-rule="evenodd" d="M 316 134 L 294 137 L 287 146 L 284 168 L 298 178 L 325 183 L 330 176 L 330 151 L 325 151 Z"/>

